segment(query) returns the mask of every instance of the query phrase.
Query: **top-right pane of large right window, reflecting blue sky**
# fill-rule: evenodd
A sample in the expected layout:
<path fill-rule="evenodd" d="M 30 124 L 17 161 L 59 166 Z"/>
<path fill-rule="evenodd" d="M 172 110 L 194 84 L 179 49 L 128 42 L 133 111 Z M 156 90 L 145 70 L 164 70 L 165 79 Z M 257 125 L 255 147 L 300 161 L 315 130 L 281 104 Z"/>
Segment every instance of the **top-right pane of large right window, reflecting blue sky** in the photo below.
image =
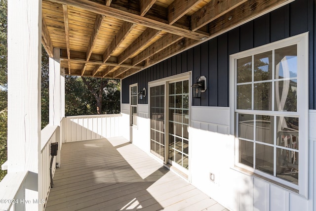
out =
<path fill-rule="evenodd" d="M 297 46 L 275 50 L 276 79 L 297 77 Z"/>

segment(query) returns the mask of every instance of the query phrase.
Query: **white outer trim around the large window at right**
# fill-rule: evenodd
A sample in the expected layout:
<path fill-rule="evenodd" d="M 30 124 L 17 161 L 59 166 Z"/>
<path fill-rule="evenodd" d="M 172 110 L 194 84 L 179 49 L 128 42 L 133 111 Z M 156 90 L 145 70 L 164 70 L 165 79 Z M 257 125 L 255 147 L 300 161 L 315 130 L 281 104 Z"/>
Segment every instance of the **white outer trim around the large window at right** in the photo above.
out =
<path fill-rule="evenodd" d="M 256 48 L 252 48 L 250 50 L 242 51 L 233 55 L 230 55 L 230 110 L 231 110 L 231 127 L 230 133 L 235 136 L 235 124 L 236 124 L 236 116 L 235 116 L 235 108 L 237 99 L 235 97 L 236 92 L 236 60 L 239 58 L 243 58 L 250 55 L 255 55 L 261 52 L 266 52 L 272 49 L 282 48 L 285 46 L 297 44 L 297 67 L 300 70 L 297 73 L 298 79 L 298 95 L 297 95 L 297 112 L 289 112 L 288 114 L 291 116 L 294 114 L 295 116 L 300 117 L 299 123 L 299 135 L 300 135 L 300 146 L 299 146 L 299 182 L 298 185 L 293 184 L 291 182 L 287 182 L 283 179 L 279 179 L 273 175 L 269 175 L 267 173 L 261 173 L 258 170 L 255 170 L 250 167 L 246 167 L 238 163 L 238 138 L 235 137 L 235 161 L 234 166 L 237 167 L 238 171 L 242 172 L 250 172 L 251 175 L 258 175 L 260 178 L 267 178 L 268 182 L 272 182 L 275 184 L 279 184 L 281 187 L 286 187 L 288 190 L 294 190 L 294 192 L 298 192 L 299 195 L 307 198 L 308 197 L 308 175 L 309 175 L 309 123 L 308 123 L 308 111 L 309 111 L 309 101 L 308 101 L 308 35 L 309 33 L 303 33 L 301 35 L 293 36 L 290 38 L 286 38 L 281 41 L 272 42 L 263 46 L 259 46 Z M 254 111 L 255 113 L 255 111 Z M 282 113 L 284 114 L 284 113 Z M 244 170 L 243 170 L 244 169 Z"/>

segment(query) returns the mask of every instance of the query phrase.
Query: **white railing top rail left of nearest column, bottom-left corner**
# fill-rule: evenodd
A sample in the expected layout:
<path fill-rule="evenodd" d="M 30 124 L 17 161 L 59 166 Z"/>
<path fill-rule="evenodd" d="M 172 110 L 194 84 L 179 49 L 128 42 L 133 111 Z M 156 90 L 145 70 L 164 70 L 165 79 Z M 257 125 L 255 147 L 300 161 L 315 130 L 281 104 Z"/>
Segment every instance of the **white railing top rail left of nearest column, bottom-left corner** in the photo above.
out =
<path fill-rule="evenodd" d="M 0 211 L 8 211 L 29 171 L 7 173 L 0 182 Z M 5 201 L 3 201 L 5 200 Z M 10 201 L 11 200 L 11 201 Z M 2 202 L 3 201 L 3 202 Z"/>

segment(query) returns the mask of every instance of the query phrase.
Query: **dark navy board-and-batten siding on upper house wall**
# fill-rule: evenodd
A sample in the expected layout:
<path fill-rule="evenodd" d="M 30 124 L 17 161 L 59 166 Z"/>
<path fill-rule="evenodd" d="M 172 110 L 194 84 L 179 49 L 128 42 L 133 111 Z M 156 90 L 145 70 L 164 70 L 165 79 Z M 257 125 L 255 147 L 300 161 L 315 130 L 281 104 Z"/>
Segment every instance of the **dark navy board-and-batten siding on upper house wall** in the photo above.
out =
<path fill-rule="evenodd" d="M 309 32 L 309 108 L 316 109 L 316 3 L 295 0 L 277 10 L 247 22 L 212 40 L 122 80 L 122 103 L 129 103 L 129 84 L 138 83 L 138 91 L 148 90 L 148 82 L 192 71 L 192 82 L 207 78 L 207 90 L 195 106 L 229 106 L 229 55 L 270 42 Z M 148 97 L 138 100 L 148 103 Z"/>

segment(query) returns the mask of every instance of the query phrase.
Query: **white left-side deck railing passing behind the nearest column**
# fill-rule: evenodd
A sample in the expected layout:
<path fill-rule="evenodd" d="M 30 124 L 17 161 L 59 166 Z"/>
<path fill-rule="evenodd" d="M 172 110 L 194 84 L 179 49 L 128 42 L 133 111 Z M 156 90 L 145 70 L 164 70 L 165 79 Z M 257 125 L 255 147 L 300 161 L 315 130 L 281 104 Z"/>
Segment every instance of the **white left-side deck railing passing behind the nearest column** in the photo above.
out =
<path fill-rule="evenodd" d="M 40 150 L 40 167 L 39 167 L 39 210 L 44 210 L 44 205 L 50 190 L 50 144 L 60 142 L 60 127 L 46 126 L 41 130 L 41 150 Z M 60 143 L 58 143 L 60 144 Z M 58 152 L 60 153 L 60 152 Z M 56 158 L 53 160 L 52 173 L 56 169 Z M 32 173 L 34 176 L 34 173 Z M 28 203 L 26 202 L 25 192 L 29 171 L 11 172 L 5 175 L 0 182 L 0 211 L 19 211 L 25 210 Z M 31 177 L 32 177 L 31 176 Z"/>

